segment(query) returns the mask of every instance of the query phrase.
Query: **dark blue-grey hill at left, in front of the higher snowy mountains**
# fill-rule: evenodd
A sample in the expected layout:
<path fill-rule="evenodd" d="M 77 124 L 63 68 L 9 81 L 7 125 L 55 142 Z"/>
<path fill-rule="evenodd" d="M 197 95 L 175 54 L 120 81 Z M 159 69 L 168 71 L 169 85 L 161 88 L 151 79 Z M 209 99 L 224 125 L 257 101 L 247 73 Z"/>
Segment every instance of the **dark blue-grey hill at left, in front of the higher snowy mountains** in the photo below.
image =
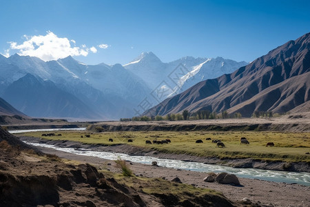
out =
<path fill-rule="evenodd" d="M 3 92 L 3 98 L 31 117 L 98 118 L 85 103 L 55 86 L 52 81 L 27 74 Z"/>

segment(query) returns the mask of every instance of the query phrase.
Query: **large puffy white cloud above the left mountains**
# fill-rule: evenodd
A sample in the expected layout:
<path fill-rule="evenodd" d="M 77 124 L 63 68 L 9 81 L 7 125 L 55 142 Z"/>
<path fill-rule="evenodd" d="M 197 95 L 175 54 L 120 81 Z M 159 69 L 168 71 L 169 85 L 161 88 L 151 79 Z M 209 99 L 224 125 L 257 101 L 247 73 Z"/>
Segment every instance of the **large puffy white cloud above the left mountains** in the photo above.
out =
<path fill-rule="evenodd" d="M 87 56 L 90 52 L 96 53 L 97 49 L 92 46 L 87 48 L 85 44 L 81 47 L 76 47 L 74 39 L 69 40 L 66 37 L 57 37 L 53 32 L 48 31 L 45 36 L 34 35 L 29 37 L 23 35 L 25 41 L 21 44 L 11 41 L 10 48 L 5 50 L 5 55 L 8 55 L 10 50 L 17 50 L 19 55 L 29 55 L 39 57 L 43 61 L 51 61 L 59 58 L 71 56 Z M 72 45 L 73 44 L 73 45 Z M 101 48 L 99 46 L 99 48 Z M 14 51 L 15 52 L 15 51 Z"/>

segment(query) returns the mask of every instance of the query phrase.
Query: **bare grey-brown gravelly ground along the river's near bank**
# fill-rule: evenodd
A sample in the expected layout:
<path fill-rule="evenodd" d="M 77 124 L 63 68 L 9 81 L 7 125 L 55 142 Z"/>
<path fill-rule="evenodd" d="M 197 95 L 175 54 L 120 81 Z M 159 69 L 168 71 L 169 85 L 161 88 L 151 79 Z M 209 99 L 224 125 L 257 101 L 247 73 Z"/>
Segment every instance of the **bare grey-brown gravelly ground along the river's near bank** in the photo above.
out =
<path fill-rule="evenodd" d="M 99 169 L 119 172 L 119 169 L 115 167 L 114 161 L 98 157 L 74 155 L 68 152 L 53 150 L 51 148 L 40 149 L 43 152 L 58 155 L 64 159 L 90 163 L 94 164 Z M 206 176 L 206 173 L 203 172 L 176 170 L 136 163 L 131 163 L 130 166 L 136 176 L 162 177 L 167 180 L 178 177 L 185 184 L 192 184 L 201 188 L 211 188 L 221 191 L 227 198 L 233 201 L 240 201 L 244 197 L 247 197 L 253 203 L 258 203 L 261 206 L 310 206 L 310 187 L 308 186 L 244 178 L 239 178 L 242 186 L 231 186 L 218 183 L 207 183 L 203 181 L 203 178 Z"/>

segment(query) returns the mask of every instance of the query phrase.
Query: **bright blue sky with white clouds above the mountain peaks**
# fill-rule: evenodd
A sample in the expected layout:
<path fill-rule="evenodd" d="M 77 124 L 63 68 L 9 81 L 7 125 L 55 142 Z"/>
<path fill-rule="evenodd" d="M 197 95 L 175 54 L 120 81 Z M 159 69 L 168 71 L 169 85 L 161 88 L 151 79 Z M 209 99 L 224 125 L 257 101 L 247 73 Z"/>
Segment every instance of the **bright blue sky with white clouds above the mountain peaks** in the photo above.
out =
<path fill-rule="evenodd" d="M 45 60 L 68 53 L 88 64 L 124 64 L 152 51 L 163 62 L 185 56 L 253 61 L 310 32 L 310 1 L 0 3 L 0 53 Z"/>

